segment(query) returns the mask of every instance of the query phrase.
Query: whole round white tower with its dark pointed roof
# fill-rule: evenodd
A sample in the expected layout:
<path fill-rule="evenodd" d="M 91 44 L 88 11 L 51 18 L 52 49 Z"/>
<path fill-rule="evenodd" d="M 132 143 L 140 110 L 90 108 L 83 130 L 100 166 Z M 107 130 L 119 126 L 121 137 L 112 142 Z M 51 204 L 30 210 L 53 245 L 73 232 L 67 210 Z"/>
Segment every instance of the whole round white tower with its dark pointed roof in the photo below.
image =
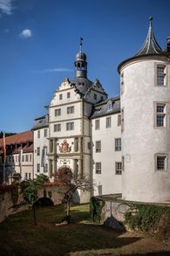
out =
<path fill-rule="evenodd" d="M 122 197 L 170 201 L 170 47 L 162 51 L 152 18 L 139 52 L 119 64 Z"/>

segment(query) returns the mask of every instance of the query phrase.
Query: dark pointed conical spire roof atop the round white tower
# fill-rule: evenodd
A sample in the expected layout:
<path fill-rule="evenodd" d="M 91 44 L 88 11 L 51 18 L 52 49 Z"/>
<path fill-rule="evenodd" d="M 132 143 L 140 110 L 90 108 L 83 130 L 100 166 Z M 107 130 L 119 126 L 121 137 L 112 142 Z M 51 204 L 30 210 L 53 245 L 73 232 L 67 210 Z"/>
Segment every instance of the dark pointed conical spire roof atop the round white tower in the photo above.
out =
<path fill-rule="evenodd" d="M 149 20 L 150 20 L 150 24 L 149 24 L 149 30 L 147 32 L 146 40 L 142 45 L 142 47 L 140 48 L 139 52 L 137 52 L 135 56 L 147 55 L 147 54 L 158 54 L 162 52 L 160 45 L 157 43 L 156 39 L 154 38 L 153 25 L 152 25 L 153 17 L 150 17 Z"/>

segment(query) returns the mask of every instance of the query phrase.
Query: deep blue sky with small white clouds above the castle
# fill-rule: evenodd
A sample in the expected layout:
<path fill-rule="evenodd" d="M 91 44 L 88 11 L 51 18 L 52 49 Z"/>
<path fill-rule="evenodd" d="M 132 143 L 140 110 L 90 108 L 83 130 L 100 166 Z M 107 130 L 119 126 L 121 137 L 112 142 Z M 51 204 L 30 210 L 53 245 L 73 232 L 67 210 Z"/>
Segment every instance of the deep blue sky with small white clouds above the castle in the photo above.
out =
<path fill-rule="evenodd" d="M 74 78 L 80 37 L 88 78 L 118 95 L 117 66 L 139 51 L 150 16 L 164 49 L 169 0 L 0 0 L 0 130 L 28 130 L 46 113 L 62 80 Z"/>

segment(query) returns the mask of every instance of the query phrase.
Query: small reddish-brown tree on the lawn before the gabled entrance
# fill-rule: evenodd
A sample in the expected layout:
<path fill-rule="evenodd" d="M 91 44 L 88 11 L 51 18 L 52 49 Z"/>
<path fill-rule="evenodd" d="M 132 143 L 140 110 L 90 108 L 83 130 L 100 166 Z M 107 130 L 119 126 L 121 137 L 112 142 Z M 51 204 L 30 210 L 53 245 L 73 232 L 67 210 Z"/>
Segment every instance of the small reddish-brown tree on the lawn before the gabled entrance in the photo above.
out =
<path fill-rule="evenodd" d="M 89 191 L 92 189 L 92 185 L 85 176 L 78 175 L 78 173 L 72 172 L 71 169 L 67 167 L 58 169 L 58 171 L 55 172 L 53 176 L 54 183 L 57 184 L 58 192 L 64 195 L 67 209 L 65 220 L 67 223 L 70 223 L 70 205 L 75 191 Z"/>

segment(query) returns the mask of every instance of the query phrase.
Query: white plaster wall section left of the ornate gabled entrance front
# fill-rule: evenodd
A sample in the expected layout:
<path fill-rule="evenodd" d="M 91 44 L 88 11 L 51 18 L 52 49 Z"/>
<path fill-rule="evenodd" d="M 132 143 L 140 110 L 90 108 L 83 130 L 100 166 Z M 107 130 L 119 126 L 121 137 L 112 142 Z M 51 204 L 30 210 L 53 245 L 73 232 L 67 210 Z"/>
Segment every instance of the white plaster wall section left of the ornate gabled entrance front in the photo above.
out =
<path fill-rule="evenodd" d="M 47 129 L 47 137 L 44 137 L 44 129 Z M 37 132 L 40 131 L 40 138 L 37 138 Z M 47 147 L 47 153 L 49 152 L 49 128 L 39 128 L 33 131 L 34 136 L 34 177 L 40 173 L 48 175 L 48 172 L 44 172 L 44 167 L 41 166 L 42 162 L 42 150 L 44 146 Z M 37 156 L 37 148 L 40 148 L 40 156 Z M 40 172 L 37 172 L 37 163 L 40 164 Z M 48 156 L 46 156 L 46 163 L 48 164 Z"/>

